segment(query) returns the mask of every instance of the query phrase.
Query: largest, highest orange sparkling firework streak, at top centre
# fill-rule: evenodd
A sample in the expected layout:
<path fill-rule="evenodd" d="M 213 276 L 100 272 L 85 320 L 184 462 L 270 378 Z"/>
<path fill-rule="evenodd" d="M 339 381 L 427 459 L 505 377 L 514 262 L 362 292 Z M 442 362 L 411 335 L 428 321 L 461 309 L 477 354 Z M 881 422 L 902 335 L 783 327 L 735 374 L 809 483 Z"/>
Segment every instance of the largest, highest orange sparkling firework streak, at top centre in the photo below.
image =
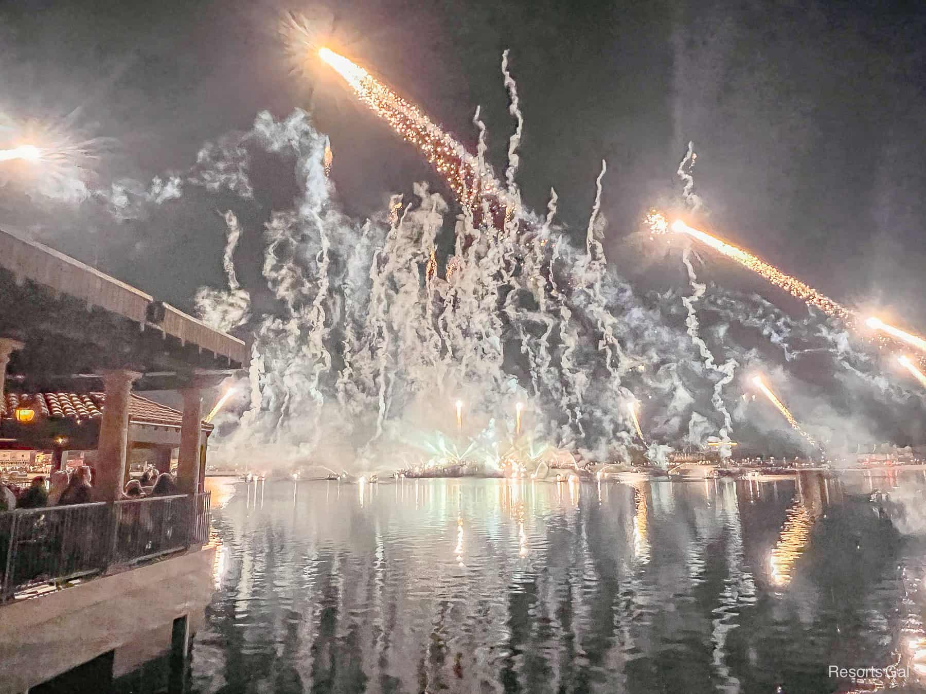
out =
<path fill-rule="evenodd" d="M 414 144 L 438 173 L 444 177 L 460 204 L 473 208 L 481 197 L 500 199 L 497 181 L 480 173 L 479 162 L 466 148 L 421 113 L 418 106 L 406 101 L 376 80 L 367 70 L 334 53 L 319 50 L 319 58 L 330 65 L 354 90 L 357 98 L 407 142 Z M 495 206 L 495 205 L 493 205 Z M 506 205 L 501 204 L 501 213 Z"/>

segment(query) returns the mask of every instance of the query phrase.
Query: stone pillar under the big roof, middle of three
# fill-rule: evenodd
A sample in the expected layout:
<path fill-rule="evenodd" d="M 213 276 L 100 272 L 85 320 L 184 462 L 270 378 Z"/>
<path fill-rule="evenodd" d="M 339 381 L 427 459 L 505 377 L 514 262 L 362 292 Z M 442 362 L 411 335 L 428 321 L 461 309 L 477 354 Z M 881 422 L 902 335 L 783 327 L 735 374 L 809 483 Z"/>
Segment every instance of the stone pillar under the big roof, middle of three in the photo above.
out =
<path fill-rule="evenodd" d="M 100 419 L 100 437 L 96 446 L 96 501 L 114 502 L 122 492 L 125 477 L 125 453 L 129 442 L 129 403 L 131 384 L 141 374 L 126 369 L 105 371 L 103 385 L 106 404 Z"/>

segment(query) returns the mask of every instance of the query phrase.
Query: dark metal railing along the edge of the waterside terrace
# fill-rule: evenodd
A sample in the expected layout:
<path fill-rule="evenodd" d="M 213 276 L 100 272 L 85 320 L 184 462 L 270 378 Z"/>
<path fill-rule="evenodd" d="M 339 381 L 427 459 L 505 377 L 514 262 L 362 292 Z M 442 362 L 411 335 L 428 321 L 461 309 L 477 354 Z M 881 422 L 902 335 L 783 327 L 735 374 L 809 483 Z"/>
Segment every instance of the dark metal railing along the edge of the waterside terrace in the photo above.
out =
<path fill-rule="evenodd" d="M 203 544 L 209 492 L 0 513 L 0 601 Z"/>

